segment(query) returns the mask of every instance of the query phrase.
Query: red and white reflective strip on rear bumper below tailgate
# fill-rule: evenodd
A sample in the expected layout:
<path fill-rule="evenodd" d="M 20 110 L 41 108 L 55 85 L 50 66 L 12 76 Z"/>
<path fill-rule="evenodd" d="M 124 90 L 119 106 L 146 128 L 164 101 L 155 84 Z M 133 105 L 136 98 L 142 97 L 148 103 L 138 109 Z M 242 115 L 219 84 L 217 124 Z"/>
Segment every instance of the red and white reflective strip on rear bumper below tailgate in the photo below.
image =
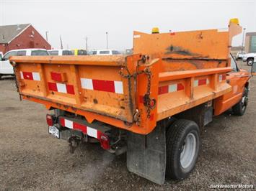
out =
<path fill-rule="evenodd" d="M 69 129 L 82 131 L 84 134 L 92 136 L 96 139 L 101 139 L 102 132 L 84 124 L 79 124 L 66 118 L 60 118 L 61 126 L 66 126 Z"/>

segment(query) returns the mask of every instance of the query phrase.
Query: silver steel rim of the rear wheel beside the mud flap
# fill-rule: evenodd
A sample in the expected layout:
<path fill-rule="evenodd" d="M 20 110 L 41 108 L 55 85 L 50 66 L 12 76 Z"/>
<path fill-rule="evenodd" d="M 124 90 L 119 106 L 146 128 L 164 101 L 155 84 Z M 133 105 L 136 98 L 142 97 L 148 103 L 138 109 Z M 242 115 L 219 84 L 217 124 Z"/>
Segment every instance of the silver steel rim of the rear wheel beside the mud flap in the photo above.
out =
<path fill-rule="evenodd" d="M 180 164 L 183 169 L 190 167 L 190 164 L 193 162 L 196 144 L 195 135 L 192 133 L 187 134 L 182 146 L 182 152 L 180 153 Z"/>

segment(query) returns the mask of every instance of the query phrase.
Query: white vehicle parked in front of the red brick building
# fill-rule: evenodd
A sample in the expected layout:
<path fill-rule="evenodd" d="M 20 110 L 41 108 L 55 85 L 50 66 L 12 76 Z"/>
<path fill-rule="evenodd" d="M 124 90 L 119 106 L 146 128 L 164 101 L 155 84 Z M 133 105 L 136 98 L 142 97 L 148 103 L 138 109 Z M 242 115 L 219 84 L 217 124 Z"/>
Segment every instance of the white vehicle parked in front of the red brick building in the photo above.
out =
<path fill-rule="evenodd" d="M 14 75 L 13 67 L 9 62 L 9 57 L 11 56 L 45 56 L 49 55 L 47 50 L 45 49 L 18 49 L 18 50 L 10 50 L 6 52 L 4 56 L 1 53 L 0 60 L 0 78 L 3 75 Z"/>

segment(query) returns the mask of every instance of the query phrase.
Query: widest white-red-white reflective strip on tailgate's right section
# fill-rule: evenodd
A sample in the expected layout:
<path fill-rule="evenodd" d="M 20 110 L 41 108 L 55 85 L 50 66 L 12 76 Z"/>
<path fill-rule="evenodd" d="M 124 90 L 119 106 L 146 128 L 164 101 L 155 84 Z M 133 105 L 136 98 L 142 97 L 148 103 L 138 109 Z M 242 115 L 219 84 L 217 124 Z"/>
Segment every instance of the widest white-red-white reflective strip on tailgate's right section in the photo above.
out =
<path fill-rule="evenodd" d="M 122 81 L 93 80 L 89 78 L 81 78 L 81 88 L 86 90 L 99 90 L 123 94 Z"/>

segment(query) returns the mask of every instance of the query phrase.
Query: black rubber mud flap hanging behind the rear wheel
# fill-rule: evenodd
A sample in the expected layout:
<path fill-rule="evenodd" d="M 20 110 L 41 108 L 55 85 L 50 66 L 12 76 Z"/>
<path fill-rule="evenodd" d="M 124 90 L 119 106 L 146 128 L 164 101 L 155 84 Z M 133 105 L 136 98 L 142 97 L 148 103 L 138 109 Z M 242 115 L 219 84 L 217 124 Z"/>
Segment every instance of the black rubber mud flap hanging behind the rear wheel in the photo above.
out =
<path fill-rule="evenodd" d="M 144 136 L 128 133 L 127 168 L 156 184 L 165 180 L 166 144 L 164 126 Z"/>

